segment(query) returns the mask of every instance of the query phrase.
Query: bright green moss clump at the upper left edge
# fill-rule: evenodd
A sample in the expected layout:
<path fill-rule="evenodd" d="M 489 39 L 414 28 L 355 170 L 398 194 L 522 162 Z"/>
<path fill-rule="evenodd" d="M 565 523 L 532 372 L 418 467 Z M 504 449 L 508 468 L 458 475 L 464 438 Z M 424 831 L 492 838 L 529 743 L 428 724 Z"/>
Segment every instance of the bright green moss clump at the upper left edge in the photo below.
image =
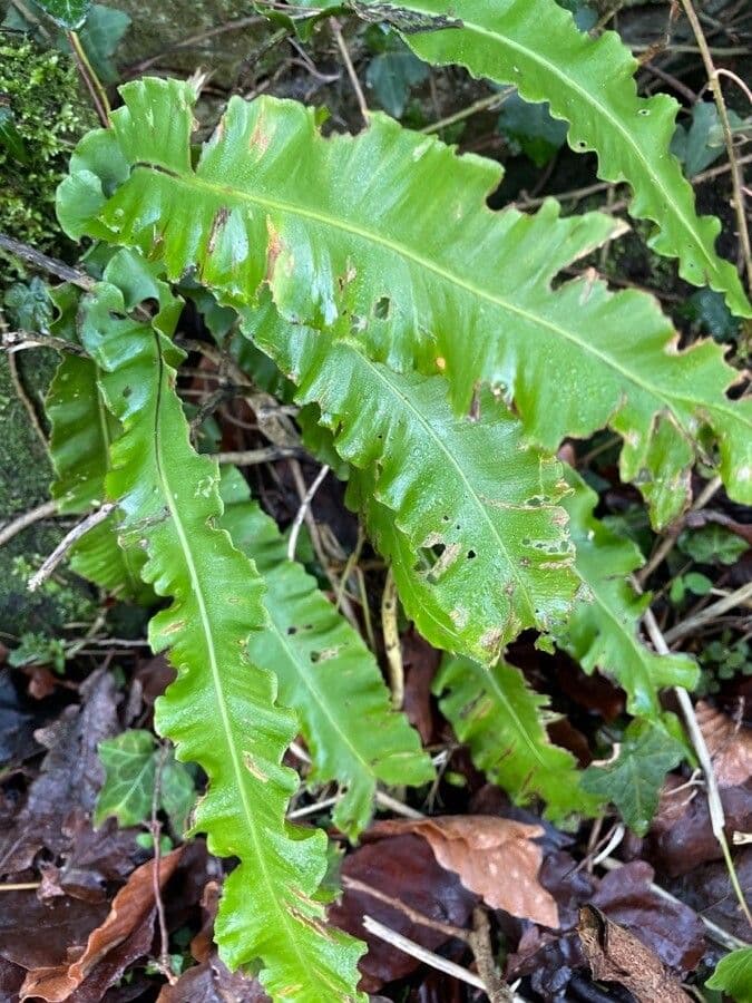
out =
<path fill-rule="evenodd" d="M 82 100 L 72 61 L 22 35 L 0 35 L 0 94 L 29 158 L 22 164 L 0 145 L 0 231 L 61 253 L 67 241 L 55 217 L 55 189 L 72 147 L 96 118 Z M 16 267 L 7 270 L 6 282 Z"/>

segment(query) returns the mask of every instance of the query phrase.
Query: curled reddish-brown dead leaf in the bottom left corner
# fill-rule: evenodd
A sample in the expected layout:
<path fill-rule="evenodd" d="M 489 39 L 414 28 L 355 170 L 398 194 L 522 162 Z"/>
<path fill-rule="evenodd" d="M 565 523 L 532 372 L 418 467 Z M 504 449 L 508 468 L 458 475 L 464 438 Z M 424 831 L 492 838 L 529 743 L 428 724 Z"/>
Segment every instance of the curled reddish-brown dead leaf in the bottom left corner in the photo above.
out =
<path fill-rule="evenodd" d="M 159 860 L 159 887 L 169 880 L 183 856 L 184 847 Z M 89 934 L 82 953 L 68 964 L 30 971 L 21 986 L 20 1000 L 39 997 L 47 1003 L 62 1003 L 81 985 L 94 968 L 145 924 L 154 921 L 154 860 L 148 860 L 130 875 L 113 900 L 101 926 Z M 150 939 L 150 937 L 149 937 Z M 76 948 L 74 948 L 76 950 Z M 71 952 L 72 954 L 72 952 Z"/>

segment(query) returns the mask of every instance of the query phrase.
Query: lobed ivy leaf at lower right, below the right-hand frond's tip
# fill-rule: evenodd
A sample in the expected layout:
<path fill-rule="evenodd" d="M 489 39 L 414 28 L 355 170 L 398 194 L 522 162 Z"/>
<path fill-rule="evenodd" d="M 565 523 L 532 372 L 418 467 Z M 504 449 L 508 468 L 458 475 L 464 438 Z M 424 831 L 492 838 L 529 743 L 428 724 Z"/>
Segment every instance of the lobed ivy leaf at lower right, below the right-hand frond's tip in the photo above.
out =
<path fill-rule="evenodd" d="M 685 756 L 682 742 L 661 724 L 632 721 L 613 762 L 589 766 L 583 773 L 584 790 L 612 801 L 627 826 L 644 836 L 658 807 L 666 772 Z"/>

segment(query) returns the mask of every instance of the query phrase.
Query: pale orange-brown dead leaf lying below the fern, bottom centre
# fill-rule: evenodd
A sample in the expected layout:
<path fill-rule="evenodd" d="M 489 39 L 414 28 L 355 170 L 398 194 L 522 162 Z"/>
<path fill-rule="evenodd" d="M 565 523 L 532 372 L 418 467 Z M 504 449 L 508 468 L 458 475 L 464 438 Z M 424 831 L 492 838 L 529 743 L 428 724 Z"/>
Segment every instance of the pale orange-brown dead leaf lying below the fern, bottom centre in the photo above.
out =
<path fill-rule="evenodd" d="M 381 821 L 371 832 L 422 836 L 439 864 L 491 908 L 558 928 L 556 899 L 538 880 L 543 849 L 533 840 L 544 835 L 543 826 L 492 815 L 446 815 Z"/>

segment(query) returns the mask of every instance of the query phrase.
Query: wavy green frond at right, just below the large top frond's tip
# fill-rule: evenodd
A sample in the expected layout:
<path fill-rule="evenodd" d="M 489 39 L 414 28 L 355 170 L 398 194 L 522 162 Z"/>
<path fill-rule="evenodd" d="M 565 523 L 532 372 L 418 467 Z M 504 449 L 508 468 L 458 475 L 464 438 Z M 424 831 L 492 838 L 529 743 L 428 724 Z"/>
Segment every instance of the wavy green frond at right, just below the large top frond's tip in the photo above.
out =
<path fill-rule="evenodd" d="M 629 713 L 657 720 L 662 713 L 658 690 L 693 689 L 697 665 L 688 655 L 660 655 L 642 643 L 639 621 L 650 595 L 636 595 L 628 581 L 643 564 L 642 555 L 629 539 L 595 518 L 598 496 L 572 468 L 565 470 L 573 491 L 561 504 L 569 513 L 575 567 L 588 595 L 575 603 L 557 644 L 586 672 L 600 669 L 613 676 L 627 693 Z"/>

